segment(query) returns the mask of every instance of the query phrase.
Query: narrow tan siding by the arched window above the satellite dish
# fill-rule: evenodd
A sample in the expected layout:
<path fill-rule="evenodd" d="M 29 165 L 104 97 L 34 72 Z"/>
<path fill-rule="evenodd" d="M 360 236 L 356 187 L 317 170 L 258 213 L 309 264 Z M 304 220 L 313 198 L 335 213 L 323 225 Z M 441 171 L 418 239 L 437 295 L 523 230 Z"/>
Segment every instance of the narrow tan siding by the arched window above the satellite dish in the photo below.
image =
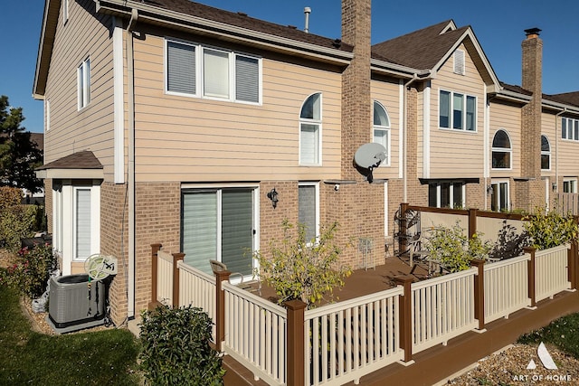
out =
<path fill-rule="evenodd" d="M 372 84 L 372 103 L 378 101 L 384 106 L 390 118 L 390 165 L 381 165 L 374 172 L 375 178 L 398 178 L 398 166 L 400 164 L 400 149 L 398 144 L 402 140 L 400 133 L 400 85 L 397 80 L 373 80 Z M 374 110 L 373 110 L 374 112 Z M 374 119 L 371 120 L 374 123 Z M 368 142 L 371 142 L 374 136 L 373 128 L 368 129 Z"/>

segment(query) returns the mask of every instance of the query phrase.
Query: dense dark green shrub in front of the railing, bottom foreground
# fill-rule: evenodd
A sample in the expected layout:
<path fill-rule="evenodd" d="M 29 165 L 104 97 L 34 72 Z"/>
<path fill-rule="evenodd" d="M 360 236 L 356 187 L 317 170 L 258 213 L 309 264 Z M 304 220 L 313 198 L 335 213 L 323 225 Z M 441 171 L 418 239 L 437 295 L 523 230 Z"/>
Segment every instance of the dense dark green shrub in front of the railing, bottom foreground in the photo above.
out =
<path fill-rule="evenodd" d="M 201 308 L 159 306 L 142 314 L 139 354 L 153 385 L 222 385 L 222 358 L 210 345 L 211 318 Z"/>

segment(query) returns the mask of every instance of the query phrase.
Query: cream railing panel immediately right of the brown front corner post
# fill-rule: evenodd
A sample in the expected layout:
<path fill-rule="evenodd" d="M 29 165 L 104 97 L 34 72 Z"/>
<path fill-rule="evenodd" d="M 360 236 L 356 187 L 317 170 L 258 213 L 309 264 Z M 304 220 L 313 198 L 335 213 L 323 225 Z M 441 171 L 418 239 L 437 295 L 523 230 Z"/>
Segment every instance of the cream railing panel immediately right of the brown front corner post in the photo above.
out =
<path fill-rule="evenodd" d="M 344 384 L 403 359 L 395 287 L 305 312 L 306 383 Z"/>

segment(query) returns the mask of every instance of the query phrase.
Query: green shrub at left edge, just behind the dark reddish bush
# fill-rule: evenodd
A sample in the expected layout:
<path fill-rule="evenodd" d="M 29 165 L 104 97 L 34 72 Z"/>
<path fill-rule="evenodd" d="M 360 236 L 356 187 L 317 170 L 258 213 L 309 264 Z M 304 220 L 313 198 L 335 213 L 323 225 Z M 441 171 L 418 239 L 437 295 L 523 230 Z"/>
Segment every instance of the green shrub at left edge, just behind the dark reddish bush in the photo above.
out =
<path fill-rule="evenodd" d="M 16 251 L 21 239 L 32 237 L 38 230 L 37 205 L 14 205 L 0 210 L 0 248 Z"/>

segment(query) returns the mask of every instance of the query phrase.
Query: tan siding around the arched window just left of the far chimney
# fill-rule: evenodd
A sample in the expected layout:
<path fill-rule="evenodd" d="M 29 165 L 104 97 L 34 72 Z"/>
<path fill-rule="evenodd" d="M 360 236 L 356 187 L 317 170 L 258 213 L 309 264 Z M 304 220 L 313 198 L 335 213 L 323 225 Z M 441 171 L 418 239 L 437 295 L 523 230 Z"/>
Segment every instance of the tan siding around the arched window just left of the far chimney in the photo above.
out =
<path fill-rule="evenodd" d="M 504 129 L 508 133 L 512 147 L 512 170 L 491 169 L 491 177 L 510 177 L 519 176 L 521 173 L 521 109 L 518 106 L 512 106 L 503 103 L 490 103 L 490 132 L 489 132 L 489 152 L 492 154 L 492 140 L 499 129 Z M 491 163 L 491 154 L 489 154 L 489 163 Z"/>

